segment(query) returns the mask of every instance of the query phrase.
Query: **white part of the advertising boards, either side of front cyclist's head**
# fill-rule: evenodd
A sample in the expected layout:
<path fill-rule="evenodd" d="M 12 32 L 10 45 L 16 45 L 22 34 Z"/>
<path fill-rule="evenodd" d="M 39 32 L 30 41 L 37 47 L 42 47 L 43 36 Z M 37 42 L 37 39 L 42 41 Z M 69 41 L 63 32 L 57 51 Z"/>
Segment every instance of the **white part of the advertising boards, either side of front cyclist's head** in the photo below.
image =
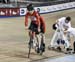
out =
<path fill-rule="evenodd" d="M 75 8 L 75 2 L 69 2 L 64 4 L 52 5 L 52 6 L 35 7 L 35 10 L 40 9 L 40 13 L 48 13 L 48 12 L 55 12 L 71 8 Z M 26 14 L 26 8 L 20 8 L 20 16 L 23 16 L 25 14 Z"/>

